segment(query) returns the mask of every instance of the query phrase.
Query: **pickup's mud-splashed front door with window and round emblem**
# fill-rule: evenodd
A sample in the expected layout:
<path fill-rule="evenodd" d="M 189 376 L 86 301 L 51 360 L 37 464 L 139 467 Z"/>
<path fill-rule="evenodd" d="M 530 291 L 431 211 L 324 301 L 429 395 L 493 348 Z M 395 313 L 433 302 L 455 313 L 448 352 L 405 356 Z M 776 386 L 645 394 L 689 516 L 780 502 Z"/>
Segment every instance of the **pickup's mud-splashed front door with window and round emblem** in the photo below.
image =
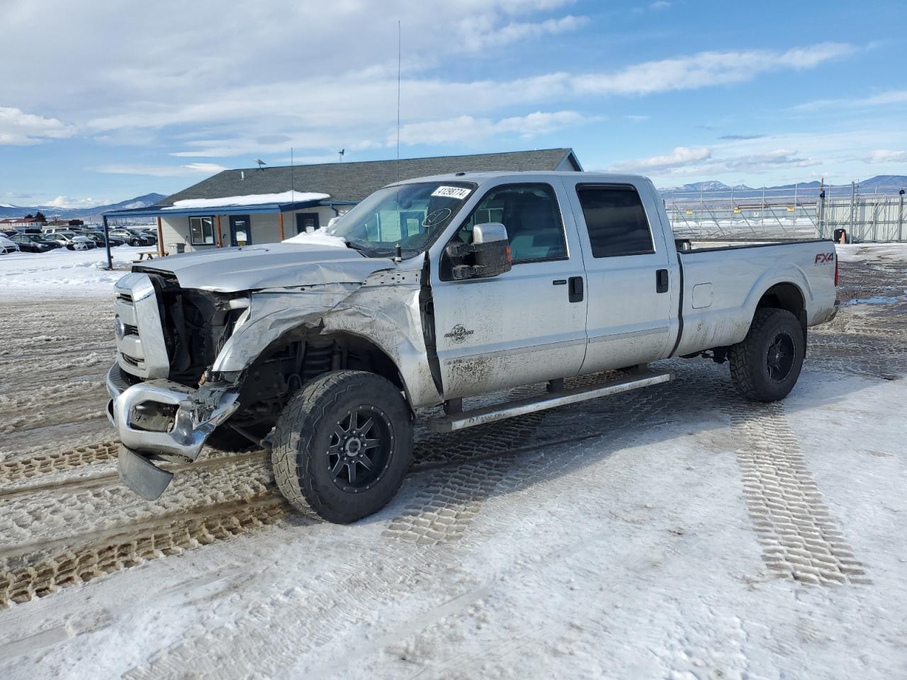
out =
<path fill-rule="evenodd" d="M 444 397 L 579 373 L 586 351 L 586 296 L 580 244 L 563 189 L 547 183 L 489 189 L 454 239 L 502 222 L 512 269 L 452 280 L 444 254 L 433 275 L 435 345 Z M 565 228 L 566 227 L 566 228 Z"/>

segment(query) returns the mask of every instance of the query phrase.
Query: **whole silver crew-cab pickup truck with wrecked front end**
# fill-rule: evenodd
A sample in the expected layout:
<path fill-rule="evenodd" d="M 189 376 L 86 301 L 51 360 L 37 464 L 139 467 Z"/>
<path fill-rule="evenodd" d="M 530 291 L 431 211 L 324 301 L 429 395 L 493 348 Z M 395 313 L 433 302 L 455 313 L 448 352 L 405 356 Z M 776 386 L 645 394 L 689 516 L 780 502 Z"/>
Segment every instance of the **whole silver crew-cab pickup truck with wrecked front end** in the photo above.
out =
<path fill-rule="evenodd" d="M 837 309 L 833 243 L 678 244 L 646 178 L 458 172 L 379 189 L 283 243 L 133 267 L 107 377 L 122 481 L 156 499 L 161 461 L 260 445 L 290 503 L 350 522 L 394 496 L 426 407 L 443 404 L 425 425 L 451 432 L 666 383 L 646 364 L 677 356 L 727 361 L 746 397 L 783 398 L 807 327 Z"/>

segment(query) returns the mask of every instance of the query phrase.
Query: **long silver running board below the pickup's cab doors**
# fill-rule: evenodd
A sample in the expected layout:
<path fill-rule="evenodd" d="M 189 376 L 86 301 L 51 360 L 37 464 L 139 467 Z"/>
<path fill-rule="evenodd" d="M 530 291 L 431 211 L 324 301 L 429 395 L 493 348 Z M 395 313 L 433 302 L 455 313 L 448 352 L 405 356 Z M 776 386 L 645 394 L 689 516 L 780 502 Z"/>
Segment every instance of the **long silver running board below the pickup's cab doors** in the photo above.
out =
<path fill-rule="evenodd" d="M 674 380 L 673 371 L 647 371 L 641 374 L 632 374 L 611 383 L 598 384 L 592 387 L 577 387 L 563 392 L 542 394 L 530 399 L 520 399 L 515 402 L 486 406 L 485 408 L 466 413 L 429 418 L 425 425 L 434 432 L 455 432 L 466 427 L 473 427 L 473 425 L 494 423 L 494 421 L 512 418 L 515 415 L 525 415 L 526 413 L 566 406 L 570 403 L 585 402 L 609 394 L 638 390 L 640 387 L 649 387 L 649 385 L 653 384 L 669 383 L 672 380 Z"/>

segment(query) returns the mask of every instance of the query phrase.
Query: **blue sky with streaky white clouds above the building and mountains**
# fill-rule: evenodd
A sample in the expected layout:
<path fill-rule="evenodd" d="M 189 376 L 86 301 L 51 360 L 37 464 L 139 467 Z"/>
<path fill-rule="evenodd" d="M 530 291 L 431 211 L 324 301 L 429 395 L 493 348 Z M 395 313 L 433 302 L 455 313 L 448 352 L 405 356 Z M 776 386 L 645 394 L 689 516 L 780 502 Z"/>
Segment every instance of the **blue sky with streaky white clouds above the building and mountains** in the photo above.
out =
<path fill-rule="evenodd" d="M 0 5 L 0 202 L 171 193 L 261 158 L 568 146 L 661 187 L 907 174 L 907 5 Z"/>

